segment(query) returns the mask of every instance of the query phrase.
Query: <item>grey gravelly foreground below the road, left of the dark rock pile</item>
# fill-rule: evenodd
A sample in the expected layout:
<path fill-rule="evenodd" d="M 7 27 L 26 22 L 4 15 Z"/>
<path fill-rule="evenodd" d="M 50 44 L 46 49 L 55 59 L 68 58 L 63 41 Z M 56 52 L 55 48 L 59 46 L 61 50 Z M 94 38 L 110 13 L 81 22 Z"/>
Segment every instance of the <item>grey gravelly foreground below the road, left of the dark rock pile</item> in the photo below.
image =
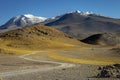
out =
<path fill-rule="evenodd" d="M 119 80 L 119 78 L 96 78 L 97 69 L 98 66 L 77 64 L 71 68 L 5 77 L 4 80 Z"/>

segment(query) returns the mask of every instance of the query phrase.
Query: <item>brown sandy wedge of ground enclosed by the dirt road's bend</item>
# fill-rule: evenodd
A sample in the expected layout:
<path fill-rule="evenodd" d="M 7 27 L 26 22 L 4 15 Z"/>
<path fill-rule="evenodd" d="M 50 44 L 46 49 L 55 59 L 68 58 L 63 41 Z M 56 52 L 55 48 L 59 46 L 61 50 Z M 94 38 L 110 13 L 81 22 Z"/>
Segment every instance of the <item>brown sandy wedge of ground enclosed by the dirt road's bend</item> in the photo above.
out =
<path fill-rule="evenodd" d="M 43 67 L 57 66 L 52 63 L 42 63 L 35 61 L 28 61 L 18 56 L 2 56 L 0 57 L 0 73 L 15 70 L 37 69 Z"/>

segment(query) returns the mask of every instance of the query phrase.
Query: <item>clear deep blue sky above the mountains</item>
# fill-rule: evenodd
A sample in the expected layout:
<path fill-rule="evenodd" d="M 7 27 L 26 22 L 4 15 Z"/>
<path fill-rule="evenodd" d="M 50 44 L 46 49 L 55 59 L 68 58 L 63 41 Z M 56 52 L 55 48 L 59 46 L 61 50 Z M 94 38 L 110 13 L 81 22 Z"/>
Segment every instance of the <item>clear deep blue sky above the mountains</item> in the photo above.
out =
<path fill-rule="evenodd" d="M 0 25 L 16 15 L 54 17 L 75 10 L 120 18 L 120 0 L 0 0 Z"/>

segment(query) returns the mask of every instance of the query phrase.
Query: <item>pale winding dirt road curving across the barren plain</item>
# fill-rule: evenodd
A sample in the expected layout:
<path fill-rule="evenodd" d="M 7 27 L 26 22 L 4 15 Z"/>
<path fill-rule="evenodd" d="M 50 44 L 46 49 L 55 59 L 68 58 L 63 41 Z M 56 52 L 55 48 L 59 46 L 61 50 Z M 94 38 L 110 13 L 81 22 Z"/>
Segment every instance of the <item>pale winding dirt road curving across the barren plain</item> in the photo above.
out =
<path fill-rule="evenodd" d="M 33 72 L 40 72 L 40 71 L 49 71 L 53 69 L 61 69 L 61 68 L 68 68 L 68 67 L 73 67 L 75 66 L 74 64 L 69 64 L 69 63 L 60 63 L 60 62 L 53 62 L 53 61 L 40 61 L 40 60 L 34 60 L 27 58 L 29 55 L 36 54 L 36 52 L 33 52 L 31 54 L 25 54 L 22 56 L 19 56 L 18 58 L 22 58 L 28 61 L 34 61 L 34 62 L 39 62 L 39 63 L 48 63 L 48 64 L 57 64 L 56 66 L 48 66 L 48 67 L 42 67 L 38 69 L 27 69 L 27 70 L 15 70 L 15 71 L 9 71 L 9 72 L 1 72 L 0 77 L 9 77 L 9 76 L 17 76 L 21 74 L 28 74 L 28 73 L 33 73 Z"/>

